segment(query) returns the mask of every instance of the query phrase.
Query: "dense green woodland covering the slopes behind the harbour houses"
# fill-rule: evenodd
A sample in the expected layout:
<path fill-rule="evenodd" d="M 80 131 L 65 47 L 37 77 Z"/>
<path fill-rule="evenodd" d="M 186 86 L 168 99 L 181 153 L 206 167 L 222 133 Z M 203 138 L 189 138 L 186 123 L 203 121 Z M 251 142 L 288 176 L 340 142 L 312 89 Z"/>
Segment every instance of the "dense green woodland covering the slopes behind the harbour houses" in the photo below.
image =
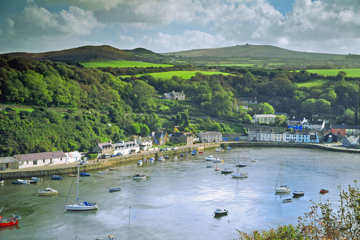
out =
<path fill-rule="evenodd" d="M 174 69 L 193 70 L 193 66 L 176 65 Z M 346 78 L 346 72 L 333 76 L 337 81 L 330 85 L 306 88 L 298 87 L 296 82 L 314 77 L 307 71 L 228 69 L 237 75 L 198 72 L 191 79 L 162 79 L 148 74 L 121 78 L 120 71 L 130 70 L 82 68 L 3 55 L 0 103 L 14 109 L 0 112 L 0 153 L 88 151 L 97 142 L 125 140 L 132 134 L 145 136 L 159 127 L 170 132 L 174 126 L 179 126 L 179 131 L 242 131 L 240 124 L 231 128 L 210 119 L 189 121 L 189 115 L 249 123 L 254 113 L 276 110 L 289 116 L 311 119 L 311 114 L 319 114 L 332 123 L 359 124 L 359 79 Z M 172 90 L 184 91 L 186 100 L 158 98 Z M 237 98 L 255 96 L 262 104 L 236 111 Z"/>

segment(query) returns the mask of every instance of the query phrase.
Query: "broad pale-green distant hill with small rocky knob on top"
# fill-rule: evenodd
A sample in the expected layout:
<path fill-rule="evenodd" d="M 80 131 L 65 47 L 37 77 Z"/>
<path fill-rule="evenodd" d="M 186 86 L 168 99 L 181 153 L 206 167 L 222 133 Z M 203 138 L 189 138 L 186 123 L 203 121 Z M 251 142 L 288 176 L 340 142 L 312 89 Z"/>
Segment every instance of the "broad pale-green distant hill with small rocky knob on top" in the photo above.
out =
<path fill-rule="evenodd" d="M 302 58 L 302 59 L 332 59 L 341 58 L 341 54 L 325 53 L 307 53 L 283 49 L 270 45 L 237 45 L 231 47 L 218 47 L 208 49 L 193 49 L 178 51 L 172 53 L 163 53 L 164 55 L 176 56 L 223 56 L 223 57 L 243 57 L 243 56 L 261 56 L 267 58 Z"/>

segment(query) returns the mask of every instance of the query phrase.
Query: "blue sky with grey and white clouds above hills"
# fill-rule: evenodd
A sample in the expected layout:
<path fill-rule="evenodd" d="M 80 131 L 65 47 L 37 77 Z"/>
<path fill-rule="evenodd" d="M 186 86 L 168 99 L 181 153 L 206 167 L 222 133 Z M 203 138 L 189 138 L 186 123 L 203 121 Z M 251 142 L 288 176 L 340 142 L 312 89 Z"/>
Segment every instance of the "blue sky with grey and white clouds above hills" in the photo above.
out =
<path fill-rule="evenodd" d="M 0 53 L 243 44 L 359 54 L 358 0 L 1 0 Z"/>

